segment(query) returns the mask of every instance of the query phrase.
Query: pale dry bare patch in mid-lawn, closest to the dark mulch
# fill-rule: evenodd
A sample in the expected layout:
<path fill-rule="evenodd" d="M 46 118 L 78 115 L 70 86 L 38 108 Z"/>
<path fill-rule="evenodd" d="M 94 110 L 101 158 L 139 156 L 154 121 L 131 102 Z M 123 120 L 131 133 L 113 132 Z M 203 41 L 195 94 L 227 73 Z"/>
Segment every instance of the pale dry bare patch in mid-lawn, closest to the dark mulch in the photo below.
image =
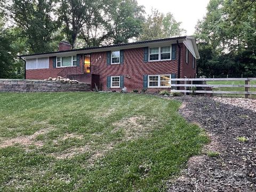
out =
<path fill-rule="evenodd" d="M 131 140 L 145 136 L 155 123 L 155 119 L 148 120 L 144 116 L 134 116 L 115 122 L 113 124 L 115 129 L 112 132 L 115 133 L 122 129 L 125 131 L 124 139 Z"/>

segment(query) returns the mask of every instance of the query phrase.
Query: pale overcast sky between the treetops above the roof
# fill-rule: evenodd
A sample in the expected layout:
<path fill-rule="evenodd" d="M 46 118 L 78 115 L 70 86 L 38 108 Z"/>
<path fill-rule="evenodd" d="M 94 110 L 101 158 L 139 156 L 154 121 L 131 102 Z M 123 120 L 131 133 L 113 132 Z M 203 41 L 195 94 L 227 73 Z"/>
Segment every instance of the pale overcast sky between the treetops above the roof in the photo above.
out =
<path fill-rule="evenodd" d="M 187 30 L 185 35 L 193 35 L 196 23 L 206 14 L 209 0 L 137 0 L 139 5 L 144 5 L 147 14 L 151 7 L 162 13 L 171 12 L 181 27 Z"/>

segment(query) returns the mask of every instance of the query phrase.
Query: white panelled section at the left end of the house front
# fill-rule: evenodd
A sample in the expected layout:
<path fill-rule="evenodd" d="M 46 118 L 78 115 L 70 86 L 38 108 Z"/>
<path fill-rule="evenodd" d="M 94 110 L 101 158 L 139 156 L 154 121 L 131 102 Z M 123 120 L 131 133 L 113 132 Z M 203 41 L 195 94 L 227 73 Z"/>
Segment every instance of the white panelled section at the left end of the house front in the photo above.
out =
<path fill-rule="evenodd" d="M 49 68 L 49 57 L 26 60 L 26 69 L 47 69 Z"/>

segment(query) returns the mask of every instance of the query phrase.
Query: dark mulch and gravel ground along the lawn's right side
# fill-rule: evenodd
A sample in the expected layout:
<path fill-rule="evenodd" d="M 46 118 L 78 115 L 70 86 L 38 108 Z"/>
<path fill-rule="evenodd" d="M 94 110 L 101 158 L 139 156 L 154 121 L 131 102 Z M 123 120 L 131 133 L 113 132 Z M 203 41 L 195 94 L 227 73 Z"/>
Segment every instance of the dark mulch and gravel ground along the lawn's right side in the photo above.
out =
<path fill-rule="evenodd" d="M 256 191 L 256 100 L 172 99 L 182 101 L 180 114 L 205 129 L 211 142 L 203 155 L 190 158 L 179 178 L 167 183 L 167 191 Z M 211 157 L 209 151 L 219 155 Z"/>

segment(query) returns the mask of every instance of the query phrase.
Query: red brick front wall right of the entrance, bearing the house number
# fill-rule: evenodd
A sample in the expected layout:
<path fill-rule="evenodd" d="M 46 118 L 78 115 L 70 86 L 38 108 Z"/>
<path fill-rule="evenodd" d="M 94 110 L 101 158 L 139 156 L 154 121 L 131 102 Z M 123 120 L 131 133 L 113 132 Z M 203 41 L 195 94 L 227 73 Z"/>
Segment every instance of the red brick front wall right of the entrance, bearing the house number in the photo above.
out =
<path fill-rule="evenodd" d="M 99 66 L 100 83 L 103 90 L 107 90 L 107 76 L 124 75 L 124 86 L 128 91 L 143 89 L 143 75 L 177 74 L 177 59 L 169 61 L 143 61 L 143 48 L 124 50 L 124 63 L 107 65 L 107 53 L 99 52 L 91 54 L 91 64 Z M 129 76 L 129 77 L 126 77 Z M 110 89 L 118 90 L 121 89 Z M 154 90 L 149 88 L 148 90 Z"/>

